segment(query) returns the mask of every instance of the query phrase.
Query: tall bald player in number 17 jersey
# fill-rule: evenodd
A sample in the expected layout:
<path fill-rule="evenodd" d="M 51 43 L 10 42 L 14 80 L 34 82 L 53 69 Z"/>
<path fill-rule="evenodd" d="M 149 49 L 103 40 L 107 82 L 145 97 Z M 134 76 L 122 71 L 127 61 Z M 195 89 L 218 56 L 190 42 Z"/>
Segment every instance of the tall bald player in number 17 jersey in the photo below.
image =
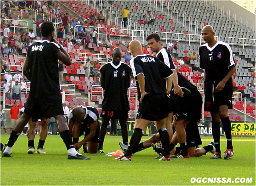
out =
<path fill-rule="evenodd" d="M 233 85 L 231 77 L 236 72 L 232 49 L 227 43 L 217 41 L 212 26 L 207 25 L 201 31 L 206 44 L 199 47 L 199 64 L 204 69 L 204 110 L 210 111 L 212 116 L 212 136 L 216 152 L 212 159 L 221 158 L 220 149 L 220 121 L 227 138 L 227 149 L 224 159 L 231 159 L 234 155 L 231 123 L 228 109 L 232 109 Z"/>

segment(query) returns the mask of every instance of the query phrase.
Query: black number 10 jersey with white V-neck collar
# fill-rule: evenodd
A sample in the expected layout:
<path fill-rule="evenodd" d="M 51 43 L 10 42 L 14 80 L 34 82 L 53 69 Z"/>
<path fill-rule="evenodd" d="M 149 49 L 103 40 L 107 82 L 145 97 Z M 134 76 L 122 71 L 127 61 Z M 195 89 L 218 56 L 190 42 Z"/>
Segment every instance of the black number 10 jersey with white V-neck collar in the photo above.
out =
<path fill-rule="evenodd" d="M 100 68 L 100 73 L 105 79 L 102 109 L 111 111 L 130 110 L 127 90 L 131 84 L 131 68 L 122 62 L 115 66 L 111 61 Z"/>

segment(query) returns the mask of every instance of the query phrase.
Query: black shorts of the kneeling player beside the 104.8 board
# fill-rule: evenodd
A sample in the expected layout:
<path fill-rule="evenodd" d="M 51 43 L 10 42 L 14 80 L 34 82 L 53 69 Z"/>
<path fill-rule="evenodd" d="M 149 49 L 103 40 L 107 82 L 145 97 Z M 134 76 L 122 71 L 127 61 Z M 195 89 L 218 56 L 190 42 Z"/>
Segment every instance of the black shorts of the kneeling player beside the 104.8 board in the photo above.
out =
<path fill-rule="evenodd" d="M 189 122 L 189 124 L 186 126 L 185 131 L 187 147 L 202 145 L 197 122 Z"/>

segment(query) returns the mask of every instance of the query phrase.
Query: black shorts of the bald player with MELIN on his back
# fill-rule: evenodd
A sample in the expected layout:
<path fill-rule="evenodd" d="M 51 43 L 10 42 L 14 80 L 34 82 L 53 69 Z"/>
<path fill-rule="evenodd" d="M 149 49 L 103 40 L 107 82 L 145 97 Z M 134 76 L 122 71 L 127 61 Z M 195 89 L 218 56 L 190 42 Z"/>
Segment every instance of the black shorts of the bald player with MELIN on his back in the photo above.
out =
<path fill-rule="evenodd" d="M 136 119 L 147 119 L 149 121 L 160 121 L 170 113 L 170 107 L 166 93 L 149 93 L 145 95 L 140 103 Z"/>

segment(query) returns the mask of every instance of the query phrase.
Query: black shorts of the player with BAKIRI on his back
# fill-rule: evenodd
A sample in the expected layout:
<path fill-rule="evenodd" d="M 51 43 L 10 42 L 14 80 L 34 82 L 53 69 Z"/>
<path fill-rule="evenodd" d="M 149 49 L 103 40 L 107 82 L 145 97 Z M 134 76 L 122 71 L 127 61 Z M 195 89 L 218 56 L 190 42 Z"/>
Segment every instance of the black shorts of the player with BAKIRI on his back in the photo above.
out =
<path fill-rule="evenodd" d="M 37 119 L 50 118 L 57 115 L 64 115 L 61 99 L 54 101 L 39 101 L 30 96 L 26 102 L 24 113 L 32 116 L 33 121 Z"/>

